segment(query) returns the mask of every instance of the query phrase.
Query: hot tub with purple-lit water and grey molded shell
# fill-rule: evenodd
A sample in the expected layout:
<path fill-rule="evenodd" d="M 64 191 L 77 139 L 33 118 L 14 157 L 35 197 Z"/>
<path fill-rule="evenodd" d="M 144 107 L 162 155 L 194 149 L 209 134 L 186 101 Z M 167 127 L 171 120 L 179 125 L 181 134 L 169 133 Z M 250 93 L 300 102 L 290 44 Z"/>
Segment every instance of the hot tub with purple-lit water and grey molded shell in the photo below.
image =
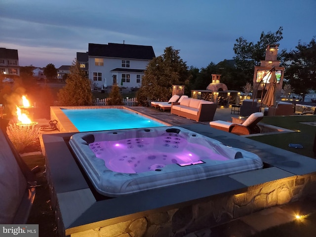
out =
<path fill-rule="evenodd" d="M 109 197 L 263 167 L 253 153 L 175 126 L 82 132 L 69 143 L 96 191 Z"/>

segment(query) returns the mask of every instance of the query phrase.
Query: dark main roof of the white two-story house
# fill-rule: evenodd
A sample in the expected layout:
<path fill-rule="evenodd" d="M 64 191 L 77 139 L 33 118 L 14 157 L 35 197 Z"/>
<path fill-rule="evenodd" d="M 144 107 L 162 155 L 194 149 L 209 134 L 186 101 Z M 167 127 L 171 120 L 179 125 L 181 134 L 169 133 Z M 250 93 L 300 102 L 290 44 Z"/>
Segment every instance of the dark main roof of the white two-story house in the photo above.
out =
<path fill-rule="evenodd" d="M 89 43 L 89 56 L 152 60 L 155 56 L 152 46 L 125 43 Z"/>

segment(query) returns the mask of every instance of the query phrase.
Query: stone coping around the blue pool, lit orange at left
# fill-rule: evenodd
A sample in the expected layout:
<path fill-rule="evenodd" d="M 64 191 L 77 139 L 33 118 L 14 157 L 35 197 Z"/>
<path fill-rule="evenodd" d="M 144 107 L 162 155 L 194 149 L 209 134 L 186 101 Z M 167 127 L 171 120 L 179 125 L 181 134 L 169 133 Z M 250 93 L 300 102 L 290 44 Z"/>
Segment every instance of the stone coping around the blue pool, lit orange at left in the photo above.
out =
<path fill-rule="evenodd" d="M 172 124 L 159 120 L 157 118 L 153 118 L 146 114 L 143 114 L 139 111 L 133 110 L 132 107 L 129 106 L 51 106 L 50 107 L 50 120 L 58 121 L 56 126 L 59 132 L 79 132 L 77 127 L 71 122 L 71 120 L 64 114 L 62 109 L 69 109 L 69 110 L 79 110 L 79 109 L 125 109 L 135 114 L 139 114 L 146 118 L 150 118 L 151 120 L 163 123 L 166 126 L 171 126 Z"/>

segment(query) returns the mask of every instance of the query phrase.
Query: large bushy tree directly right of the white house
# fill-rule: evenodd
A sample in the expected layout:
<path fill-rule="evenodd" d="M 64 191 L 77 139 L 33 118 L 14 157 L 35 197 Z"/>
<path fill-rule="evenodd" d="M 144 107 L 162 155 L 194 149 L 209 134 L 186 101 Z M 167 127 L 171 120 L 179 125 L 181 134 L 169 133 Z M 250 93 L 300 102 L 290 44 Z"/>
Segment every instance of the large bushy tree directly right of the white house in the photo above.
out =
<path fill-rule="evenodd" d="M 166 47 L 160 55 L 147 65 L 142 86 L 137 91 L 138 102 L 148 100 L 167 101 L 172 94 L 172 85 L 188 85 L 191 77 L 186 63 L 180 58 L 179 50 Z"/>

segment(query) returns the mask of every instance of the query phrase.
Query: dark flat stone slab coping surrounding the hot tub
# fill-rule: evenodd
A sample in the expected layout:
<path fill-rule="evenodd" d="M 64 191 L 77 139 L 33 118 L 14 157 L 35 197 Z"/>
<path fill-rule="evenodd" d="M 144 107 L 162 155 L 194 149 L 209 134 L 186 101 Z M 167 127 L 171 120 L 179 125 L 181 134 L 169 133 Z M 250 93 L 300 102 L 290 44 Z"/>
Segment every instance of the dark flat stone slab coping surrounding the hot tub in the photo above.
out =
<path fill-rule="evenodd" d="M 66 235 L 97 228 L 100 224 L 112 225 L 129 220 L 131 217 L 140 217 L 153 210 L 180 208 L 217 195 L 239 194 L 255 185 L 274 182 L 277 179 L 316 173 L 316 159 L 203 124 L 185 124 L 181 127 L 214 138 L 223 144 L 255 153 L 268 164 L 268 167 L 128 196 L 97 200 L 67 145 L 67 138 L 69 139 L 74 133 L 43 134 L 47 175 L 58 199 Z M 107 211 L 98 212 L 101 208 Z"/>

